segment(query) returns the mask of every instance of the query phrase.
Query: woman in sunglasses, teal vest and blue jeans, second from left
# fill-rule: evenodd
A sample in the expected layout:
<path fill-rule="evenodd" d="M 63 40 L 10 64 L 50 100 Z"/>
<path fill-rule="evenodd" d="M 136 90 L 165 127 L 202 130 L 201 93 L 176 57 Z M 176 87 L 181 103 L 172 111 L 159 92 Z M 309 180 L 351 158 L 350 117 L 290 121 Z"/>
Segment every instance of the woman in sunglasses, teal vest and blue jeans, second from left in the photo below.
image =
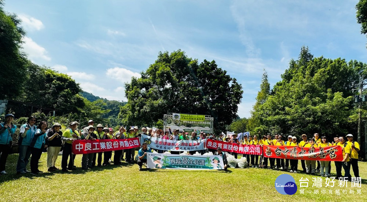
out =
<path fill-rule="evenodd" d="M 19 131 L 18 145 L 19 145 L 19 157 L 17 163 L 17 174 L 29 173 L 26 169 L 29 163 L 29 157 L 32 154 L 30 143 L 34 137 L 34 133 L 37 130 L 37 119 L 34 116 L 30 116 L 27 123 L 23 124 Z"/>

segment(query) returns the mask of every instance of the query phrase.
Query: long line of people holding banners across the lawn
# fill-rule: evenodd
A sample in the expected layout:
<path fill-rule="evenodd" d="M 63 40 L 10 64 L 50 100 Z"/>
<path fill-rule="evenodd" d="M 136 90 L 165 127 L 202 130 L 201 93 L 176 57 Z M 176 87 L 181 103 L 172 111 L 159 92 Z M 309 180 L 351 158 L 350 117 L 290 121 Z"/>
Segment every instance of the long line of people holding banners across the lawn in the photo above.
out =
<path fill-rule="evenodd" d="M 0 174 L 6 174 L 6 160 L 12 145 L 12 136 L 16 131 L 17 126 L 12 122 L 14 120 L 14 115 L 5 115 L 5 122 L 0 123 Z M 68 170 L 75 170 L 74 165 L 75 155 L 72 153 L 72 143 L 74 140 L 106 140 L 106 139 L 125 139 L 141 137 L 141 134 L 147 136 L 163 138 L 166 140 L 203 140 L 212 139 L 217 141 L 224 141 L 228 143 L 243 144 L 243 145 L 284 145 L 292 147 L 329 147 L 333 145 L 339 145 L 343 148 L 343 160 L 341 162 L 335 161 L 335 169 L 337 173 L 337 178 L 342 177 L 342 169 L 344 169 L 344 177 L 351 179 L 350 167 L 352 166 L 355 177 L 359 177 L 358 168 L 358 151 L 359 144 L 353 140 L 353 135 L 348 134 L 346 137 L 334 137 L 334 140 L 330 143 L 325 136 L 319 137 L 318 133 L 315 133 L 313 137 L 308 138 L 306 134 L 302 134 L 302 141 L 297 141 L 297 137 L 288 136 L 287 140 L 284 141 L 281 135 L 275 135 L 273 138 L 270 134 L 262 136 L 243 136 L 240 140 L 237 139 L 237 134 L 233 134 L 231 137 L 225 136 L 223 133 L 215 136 L 214 134 L 207 135 L 206 133 L 200 132 L 197 134 L 192 132 L 189 133 L 181 130 L 168 129 L 168 131 L 142 127 L 141 132 L 137 126 L 130 127 L 128 130 L 121 126 L 118 131 L 114 131 L 112 128 L 107 126 L 102 126 L 98 124 L 94 127 L 94 121 L 89 120 L 88 126 L 79 127 L 78 122 L 69 123 L 69 127 L 61 131 L 61 125 L 59 123 L 54 123 L 50 129 L 48 129 L 48 123 L 45 121 L 40 121 L 36 125 L 37 119 L 34 116 L 30 116 L 27 123 L 21 125 L 19 130 L 19 157 L 17 162 L 17 174 L 38 174 L 42 173 L 39 170 L 39 159 L 41 157 L 44 149 L 47 149 L 47 167 L 49 172 L 54 172 L 58 170 L 56 167 L 56 160 L 58 158 L 59 152 L 62 150 L 61 159 L 61 170 L 67 172 Z M 347 139 L 347 140 L 346 140 Z M 226 155 L 222 152 L 222 148 L 217 148 L 217 150 L 211 150 L 213 154 L 218 154 L 222 156 L 224 162 L 227 162 Z M 143 144 L 142 148 L 138 151 L 137 163 L 139 169 L 141 170 L 142 165 L 146 163 L 146 153 L 152 152 L 152 149 Z M 157 150 L 159 153 L 164 151 Z M 189 151 L 189 154 L 195 154 L 196 151 Z M 201 154 L 207 152 L 206 150 L 200 151 Z M 125 154 L 125 155 L 124 155 Z M 180 154 L 180 152 L 172 151 L 171 154 Z M 114 151 L 113 161 L 112 151 L 109 152 L 99 152 L 83 154 L 81 168 L 82 169 L 92 169 L 96 165 L 108 166 L 110 162 L 115 165 L 120 165 L 122 160 L 127 163 L 135 163 L 134 161 L 135 148 L 117 150 Z M 232 155 L 237 159 L 237 153 L 232 153 Z M 98 156 L 98 158 L 97 158 Z M 124 158 L 125 156 L 125 158 Z M 297 173 L 298 170 L 298 160 L 297 159 L 279 159 L 279 158 L 266 158 L 263 155 L 249 155 L 243 154 L 243 157 L 247 158 L 250 167 L 254 168 L 270 168 L 283 171 L 290 171 L 292 173 Z M 103 162 L 102 162 L 103 158 Z M 30 159 L 30 171 L 26 169 Z M 250 161 L 251 160 L 251 161 Z M 270 165 L 269 165 L 270 164 Z M 317 166 L 316 166 L 317 164 Z M 329 177 L 331 171 L 330 161 L 319 161 L 319 160 L 301 160 L 302 171 L 308 174 L 320 173 L 320 176 Z M 225 169 L 227 169 L 227 163 L 225 163 Z"/>

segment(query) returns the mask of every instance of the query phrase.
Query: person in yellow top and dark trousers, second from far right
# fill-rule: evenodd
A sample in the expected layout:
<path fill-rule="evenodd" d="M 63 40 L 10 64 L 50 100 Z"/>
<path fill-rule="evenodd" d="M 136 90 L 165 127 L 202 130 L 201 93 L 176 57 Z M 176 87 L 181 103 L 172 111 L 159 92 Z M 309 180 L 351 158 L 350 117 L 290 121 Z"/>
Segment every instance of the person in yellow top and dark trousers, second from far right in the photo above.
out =
<path fill-rule="evenodd" d="M 347 177 L 348 180 L 350 181 L 352 179 L 350 177 L 350 164 L 348 162 L 349 162 L 349 156 L 352 153 L 352 148 L 348 143 L 345 142 L 345 137 L 340 136 L 338 139 L 339 143 L 337 145 L 343 148 L 344 159 L 342 161 L 335 161 L 335 167 L 337 170 L 337 179 L 342 177 L 342 167 L 343 167 L 345 172 L 344 177 Z"/>

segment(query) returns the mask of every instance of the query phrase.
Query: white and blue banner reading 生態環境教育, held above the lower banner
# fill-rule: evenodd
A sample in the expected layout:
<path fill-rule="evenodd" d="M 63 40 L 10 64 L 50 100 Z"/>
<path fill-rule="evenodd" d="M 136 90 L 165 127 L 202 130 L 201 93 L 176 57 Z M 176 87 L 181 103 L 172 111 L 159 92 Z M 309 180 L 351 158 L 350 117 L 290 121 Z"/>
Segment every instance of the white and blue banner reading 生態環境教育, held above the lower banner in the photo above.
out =
<path fill-rule="evenodd" d="M 205 140 L 166 140 L 141 134 L 140 144 L 148 143 L 148 147 L 170 151 L 197 151 L 205 149 Z"/>

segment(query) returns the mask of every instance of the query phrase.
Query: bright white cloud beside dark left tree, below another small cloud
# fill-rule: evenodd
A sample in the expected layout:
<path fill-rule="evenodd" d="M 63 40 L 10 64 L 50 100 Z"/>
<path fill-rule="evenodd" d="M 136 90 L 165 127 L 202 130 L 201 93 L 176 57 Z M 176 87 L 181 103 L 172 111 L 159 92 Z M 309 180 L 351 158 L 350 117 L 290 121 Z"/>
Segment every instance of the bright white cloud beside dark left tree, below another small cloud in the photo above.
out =
<path fill-rule="evenodd" d="M 23 41 L 24 41 L 23 50 L 28 54 L 28 57 L 31 60 L 34 60 L 34 59 L 43 59 L 46 61 L 51 60 L 51 58 L 46 55 L 47 54 L 46 49 L 38 45 L 31 38 L 24 37 Z"/>

